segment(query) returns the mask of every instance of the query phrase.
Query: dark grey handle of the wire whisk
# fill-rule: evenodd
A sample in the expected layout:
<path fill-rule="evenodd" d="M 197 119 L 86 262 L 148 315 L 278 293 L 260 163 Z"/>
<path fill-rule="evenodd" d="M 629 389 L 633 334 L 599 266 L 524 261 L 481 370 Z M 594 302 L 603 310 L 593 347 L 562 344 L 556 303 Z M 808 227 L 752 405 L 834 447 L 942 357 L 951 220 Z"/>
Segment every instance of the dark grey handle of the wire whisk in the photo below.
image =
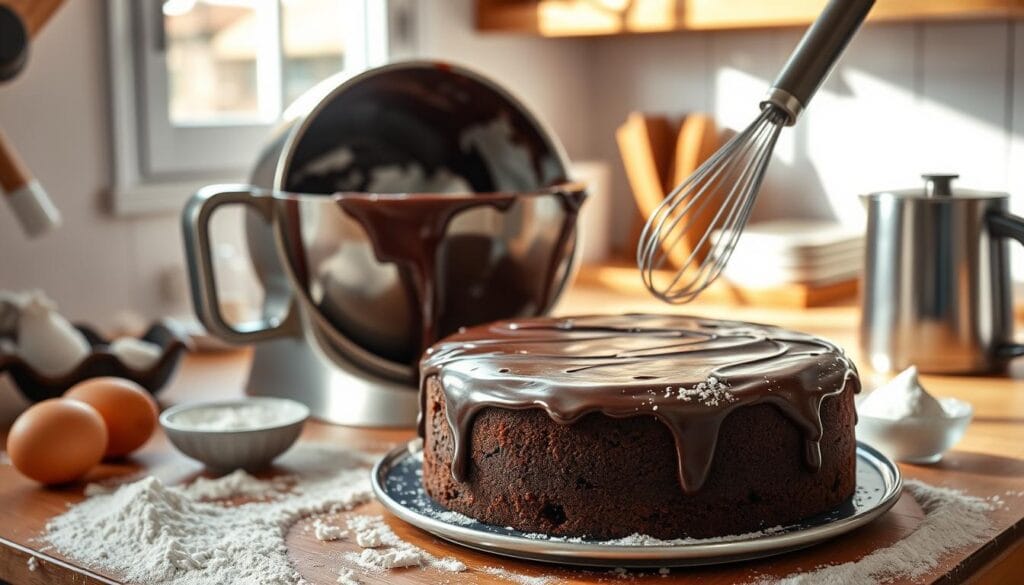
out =
<path fill-rule="evenodd" d="M 790 60 L 775 78 L 761 102 L 781 109 L 786 125 L 797 122 L 800 113 L 831 72 L 850 39 L 860 29 L 874 0 L 829 0 L 811 25 Z"/>

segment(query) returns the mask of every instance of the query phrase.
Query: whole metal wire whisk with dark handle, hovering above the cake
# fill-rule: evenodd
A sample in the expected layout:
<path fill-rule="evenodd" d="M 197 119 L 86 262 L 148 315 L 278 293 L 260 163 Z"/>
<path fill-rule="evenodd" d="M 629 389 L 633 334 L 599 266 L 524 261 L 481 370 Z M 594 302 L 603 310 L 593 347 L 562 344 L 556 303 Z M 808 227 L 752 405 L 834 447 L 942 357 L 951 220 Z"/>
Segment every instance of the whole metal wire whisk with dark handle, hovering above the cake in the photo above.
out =
<path fill-rule="evenodd" d="M 761 114 L 647 218 L 637 246 L 637 266 L 654 296 L 688 302 L 722 274 L 750 218 L 782 127 L 797 122 L 873 4 L 830 0 L 768 89 Z M 670 262 L 676 271 L 663 274 Z"/>

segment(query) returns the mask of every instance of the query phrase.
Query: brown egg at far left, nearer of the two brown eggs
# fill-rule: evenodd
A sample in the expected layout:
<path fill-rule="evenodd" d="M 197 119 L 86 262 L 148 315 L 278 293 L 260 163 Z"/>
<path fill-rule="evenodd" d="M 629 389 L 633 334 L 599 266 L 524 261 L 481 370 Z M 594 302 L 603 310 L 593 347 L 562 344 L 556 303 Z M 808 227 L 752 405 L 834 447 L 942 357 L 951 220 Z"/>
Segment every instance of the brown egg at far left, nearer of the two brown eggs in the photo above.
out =
<path fill-rule="evenodd" d="M 106 425 L 85 403 L 50 399 L 17 417 L 7 435 L 7 456 L 18 471 L 43 484 L 85 475 L 106 450 Z"/>

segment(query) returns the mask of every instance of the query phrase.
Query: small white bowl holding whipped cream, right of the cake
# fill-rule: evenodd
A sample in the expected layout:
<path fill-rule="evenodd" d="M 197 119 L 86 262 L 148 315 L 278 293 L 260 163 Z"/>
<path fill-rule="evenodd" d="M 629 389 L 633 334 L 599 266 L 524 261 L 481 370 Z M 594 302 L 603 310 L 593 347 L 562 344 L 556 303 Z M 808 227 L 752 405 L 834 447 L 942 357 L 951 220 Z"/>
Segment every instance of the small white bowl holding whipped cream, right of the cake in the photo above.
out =
<path fill-rule="evenodd" d="M 897 461 L 937 463 L 959 443 L 974 416 L 974 408 L 954 398 L 939 399 L 945 418 L 910 417 L 899 420 L 857 413 L 857 438 Z"/>

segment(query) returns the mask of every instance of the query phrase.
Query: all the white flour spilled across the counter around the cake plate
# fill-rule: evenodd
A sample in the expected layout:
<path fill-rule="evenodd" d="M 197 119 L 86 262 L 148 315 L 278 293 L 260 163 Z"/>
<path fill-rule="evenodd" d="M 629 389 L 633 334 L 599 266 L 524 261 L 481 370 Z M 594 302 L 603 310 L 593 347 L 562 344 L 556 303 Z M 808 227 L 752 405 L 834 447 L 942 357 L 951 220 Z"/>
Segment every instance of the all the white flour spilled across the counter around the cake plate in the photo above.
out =
<path fill-rule="evenodd" d="M 116 489 L 93 489 L 86 500 L 53 518 L 43 538 L 72 559 L 143 585 L 301 585 L 305 582 L 288 557 L 289 529 L 304 517 L 347 511 L 370 501 L 373 459 L 336 448 L 303 446 L 286 457 L 284 463 L 293 474 L 285 477 L 259 479 L 236 472 L 186 486 L 144 477 Z M 907 480 L 905 488 L 925 518 L 903 540 L 855 562 L 755 583 L 859 585 L 920 579 L 950 552 L 990 536 L 988 513 L 1002 505 L 997 496 L 978 498 L 915 480 Z M 236 506 L 217 501 L 238 498 L 255 501 Z M 366 574 L 379 579 L 399 568 L 467 571 L 456 558 L 437 557 L 401 540 L 381 516 L 350 515 L 344 526 L 315 518 L 310 525 L 318 540 L 345 539 L 362 549 L 344 554 L 352 566 L 338 568 L 337 582 L 342 585 L 357 585 Z M 678 543 L 683 542 L 693 541 Z M 664 543 L 639 536 L 616 542 Z M 38 561 L 33 565 L 38 567 Z M 478 571 L 518 585 L 561 582 L 555 576 L 526 576 L 494 567 Z"/>

